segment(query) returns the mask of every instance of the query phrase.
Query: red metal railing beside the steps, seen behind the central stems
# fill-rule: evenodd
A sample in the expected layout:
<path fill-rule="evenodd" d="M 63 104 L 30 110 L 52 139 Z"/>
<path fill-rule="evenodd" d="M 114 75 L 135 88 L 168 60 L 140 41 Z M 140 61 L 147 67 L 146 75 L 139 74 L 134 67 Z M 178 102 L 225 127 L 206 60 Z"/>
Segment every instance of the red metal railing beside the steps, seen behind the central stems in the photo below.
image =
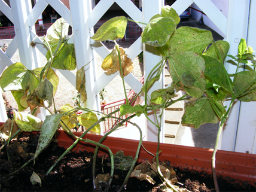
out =
<path fill-rule="evenodd" d="M 141 78 L 140 82 L 142 84 L 144 84 L 144 77 Z M 127 95 L 127 98 L 129 100 L 129 102 L 132 102 L 132 103 L 130 103 L 131 106 L 139 105 L 143 102 L 143 100 L 140 96 L 138 96 L 138 97 L 136 97 L 136 96 L 137 96 L 137 93 L 135 93 L 134 90 L 130 90 L 129 94 Z M 135 97 L 136 97 L 136 99 L 135 99 Z M 133 99 L 135 99 L 135 100 L 133 100 Z M 115 102 L 102 105 L 101 106 L 101 111 L 105 114 L 109 114 L 109 113 L 119 109 L 120 106 L 124 105 L 124 104 L 126 104 L 126 99 L 117 100 Z M 115 112 L 115 114 L 112 114 L 112 116 L 114 116 L 114 117 L 119 117 L 119 118 L 124 118 L 124 119 L 127 118 L 127 117 L 130 117 L 130 115 L 132 115 L 132 114 L 127 114 L 127 115 L 124 115 L 123 117 L 120 117 L 120 111 Z M 119 123 L 119 120 L 116 120 L 115 118 L 106 118 L 106 120 L 103 121 L 103 132 L 104 133 L 108 132 L 117 123 Z M 123 126 L 127 127 L 127 124 L 128 123 L 125 122 L 123 124 Z"/>

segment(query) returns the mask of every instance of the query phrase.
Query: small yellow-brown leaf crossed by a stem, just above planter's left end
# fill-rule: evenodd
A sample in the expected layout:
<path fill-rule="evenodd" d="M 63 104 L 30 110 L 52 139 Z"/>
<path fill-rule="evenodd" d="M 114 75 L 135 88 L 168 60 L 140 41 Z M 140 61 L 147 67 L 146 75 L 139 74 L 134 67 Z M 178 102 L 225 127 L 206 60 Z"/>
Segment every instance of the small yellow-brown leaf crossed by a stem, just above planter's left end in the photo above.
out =
<path fill-rule="evenodd" d="M 64 113 L 64 112 L 71 111 L 72 109 L 74 109 L 74 108 L 70 104 L 65 104 L 60 109 L 60 112 Z M 68 126 L 69 129 L 72 129 L 78 123 L 77 115 L 75 114 L 75 112 L 72 114 L 65 114 L 62 116 L 62 121 L 63 121 L 63 123 L 66 124 L 66 126 Z M 65 127 L 63 123 L 60 122 L 60 125 L 62 127 Z"/>

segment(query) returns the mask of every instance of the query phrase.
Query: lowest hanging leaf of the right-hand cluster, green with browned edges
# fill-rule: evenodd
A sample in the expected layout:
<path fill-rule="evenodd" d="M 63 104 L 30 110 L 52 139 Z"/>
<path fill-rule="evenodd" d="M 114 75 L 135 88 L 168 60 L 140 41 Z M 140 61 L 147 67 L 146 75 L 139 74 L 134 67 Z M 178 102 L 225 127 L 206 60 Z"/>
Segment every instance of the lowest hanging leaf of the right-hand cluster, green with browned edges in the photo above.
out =
<path fill-rule="evenodd" d="M 210 99 L 207 97 L 201 97 L 196 100 L 195 103 L 186 103 L 185 113 L 182 117 L 182 125 L 190 126 L 195 129 L 199 128 L 205 123 L 218 123 L 220 120 L 215 113 Z"/>

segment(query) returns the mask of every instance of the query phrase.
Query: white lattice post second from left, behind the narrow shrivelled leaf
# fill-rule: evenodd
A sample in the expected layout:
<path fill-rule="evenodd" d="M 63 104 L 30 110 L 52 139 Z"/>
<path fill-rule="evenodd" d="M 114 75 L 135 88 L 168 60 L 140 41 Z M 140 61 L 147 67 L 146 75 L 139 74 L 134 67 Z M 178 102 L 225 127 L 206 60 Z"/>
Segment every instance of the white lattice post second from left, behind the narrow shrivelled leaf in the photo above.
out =
<path fill-rule="evenodd" d="M 84 106 L 86 106 L 86 108 L 99 110 L 99 102 L 97 102 L 95 93 L 95 70 L 92 60 L 92 48 L 90 47 L 89 14 L 90 10 L 92 10 L 91 3 L 91 1 L 83 0 L 69 1 L 77 69 L 81 69 L 84 65 L 89 63 L 89 65 L 84 68 L 86 73 L 86 91 L 88 95 Z"/>

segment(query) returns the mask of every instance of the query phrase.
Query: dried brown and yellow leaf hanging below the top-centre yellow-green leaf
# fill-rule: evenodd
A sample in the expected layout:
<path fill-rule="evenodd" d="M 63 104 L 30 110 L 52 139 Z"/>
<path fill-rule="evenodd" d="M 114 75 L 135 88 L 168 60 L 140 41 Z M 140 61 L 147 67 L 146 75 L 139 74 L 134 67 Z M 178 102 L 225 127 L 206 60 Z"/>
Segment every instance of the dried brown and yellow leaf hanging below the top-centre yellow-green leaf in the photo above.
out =
<path fill-rule="evenodd" d="M 119 47 L 119 50 L 121 56 L 122 71 L 125 77 L 133 71 L 133 63 L 132 60 L 127 57 L 127 54 L 125 54 L 126 52 L 123 50 L 122 47 Z M 119 71 L 121 74 L 117 45 L 115 45 L 112 52 L 108 54 L 108 56 L 106 56 L 106 58 L 103 60 L 101 67 L 107 73 L 114 73 Z"/>

